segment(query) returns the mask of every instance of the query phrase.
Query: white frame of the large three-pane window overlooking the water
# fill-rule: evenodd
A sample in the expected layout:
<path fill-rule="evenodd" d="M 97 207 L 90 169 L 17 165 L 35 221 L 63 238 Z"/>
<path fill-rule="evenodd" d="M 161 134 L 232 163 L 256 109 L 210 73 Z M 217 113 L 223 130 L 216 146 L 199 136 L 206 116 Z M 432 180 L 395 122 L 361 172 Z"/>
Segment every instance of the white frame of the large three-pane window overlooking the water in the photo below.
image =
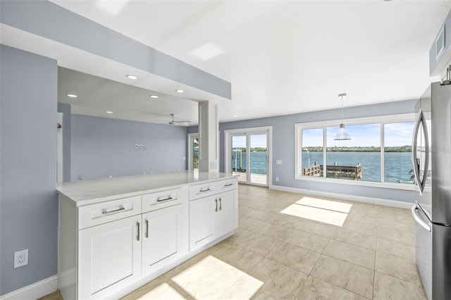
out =
<path fill-rule="evenodd" d="M 295 123 L 295 180 L 307 180 L 315 182 L 328 182 L 334 184 L 343 185 L 357 185 L 357 186 L 367 186 L 367 187 L 385 187 L 391 189 L 406 189 L 415 190 L 415 185 L 409 183 L 398 183 L 398 182 L 385 182 L 385 124 L 390 123 L 406 123 L 415 122 L 414 113 L 403 113 L 396 115 L 379 115 L 373 117 L 365 118 L 350 118 L 343 120 L 345 125 L 364 125 L 364 124 L 379 124 L 381 126 L 381 182 L 370 182 L 362 180 L 340 180 L 336 178 L 328 177 L 314 177 L 314 176 L 304 176 L 302 175 L 302 130 L 304 129 L 323 129 L 323 161 L 326 161 L 327 145 L 326 145 L 326 127 L 337 126 L 342 121 L 337 120 L 325 120 L 319 122 L 308 122 L 308 123 Z"/>

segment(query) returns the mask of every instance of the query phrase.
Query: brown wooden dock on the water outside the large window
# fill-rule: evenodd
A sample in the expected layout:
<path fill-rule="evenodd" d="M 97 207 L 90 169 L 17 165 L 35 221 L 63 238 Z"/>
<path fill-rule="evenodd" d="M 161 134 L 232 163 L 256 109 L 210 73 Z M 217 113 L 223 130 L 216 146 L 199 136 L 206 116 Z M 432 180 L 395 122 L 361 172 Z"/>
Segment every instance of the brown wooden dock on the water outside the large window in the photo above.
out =
<path fill-rule="evenodd" d="M 323 165 L 309 165 L 307 168 L 302 169 L 302 175 L 323 177 Z M 362 165 L 326 165 L 326 177 L 328 178 L 340 178 L 349 180 L 361 180 L 362 179 Z"/>

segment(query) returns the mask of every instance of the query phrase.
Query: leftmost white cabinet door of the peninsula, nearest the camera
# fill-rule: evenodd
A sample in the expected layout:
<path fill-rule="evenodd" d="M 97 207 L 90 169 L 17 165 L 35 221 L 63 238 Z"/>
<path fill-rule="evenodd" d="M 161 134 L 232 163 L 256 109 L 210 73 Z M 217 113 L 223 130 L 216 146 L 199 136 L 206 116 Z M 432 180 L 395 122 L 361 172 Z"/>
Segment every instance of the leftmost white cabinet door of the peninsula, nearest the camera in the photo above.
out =
<path fill-rule="evenodd" d="M 78 299 L 104 299 L 141 278 L 141 215 L 78 232 Z"/>

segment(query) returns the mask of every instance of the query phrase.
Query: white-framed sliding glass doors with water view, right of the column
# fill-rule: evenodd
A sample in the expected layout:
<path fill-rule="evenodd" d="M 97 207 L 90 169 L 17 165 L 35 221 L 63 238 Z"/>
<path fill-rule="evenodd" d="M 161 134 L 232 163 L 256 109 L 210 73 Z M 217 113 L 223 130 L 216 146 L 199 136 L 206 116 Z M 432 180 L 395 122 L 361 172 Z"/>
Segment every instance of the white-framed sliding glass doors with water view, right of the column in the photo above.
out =
<path fill-rule="evenodd" d="M 268 187 L 272 127 L 226 130 L 226 172 L 238 182 Z"/>

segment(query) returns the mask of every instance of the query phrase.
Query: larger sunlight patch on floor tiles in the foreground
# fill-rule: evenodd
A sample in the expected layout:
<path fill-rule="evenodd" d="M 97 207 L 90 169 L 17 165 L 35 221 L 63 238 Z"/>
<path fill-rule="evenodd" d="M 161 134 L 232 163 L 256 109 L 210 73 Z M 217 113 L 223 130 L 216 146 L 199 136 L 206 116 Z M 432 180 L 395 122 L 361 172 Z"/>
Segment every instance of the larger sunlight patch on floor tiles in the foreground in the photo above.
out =
<path fill-rule="evenodd" d="M 194 299 L 250 299 L 263 285 L 214 256 L 207 256 L 172 280 Z"/>

